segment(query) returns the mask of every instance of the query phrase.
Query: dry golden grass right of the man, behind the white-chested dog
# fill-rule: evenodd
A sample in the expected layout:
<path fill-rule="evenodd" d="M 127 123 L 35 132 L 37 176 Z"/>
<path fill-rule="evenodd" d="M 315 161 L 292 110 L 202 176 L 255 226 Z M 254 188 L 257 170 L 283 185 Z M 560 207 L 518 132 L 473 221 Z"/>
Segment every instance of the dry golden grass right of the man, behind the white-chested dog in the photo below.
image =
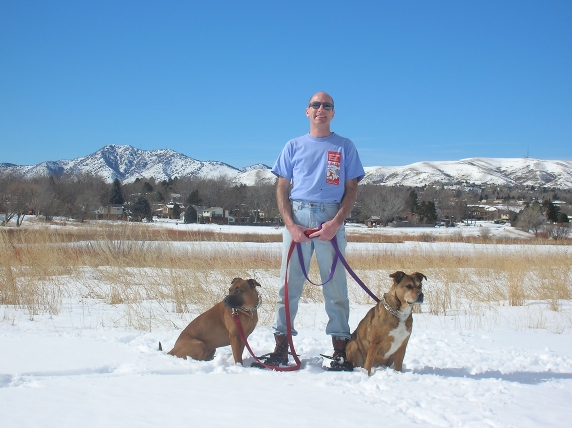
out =
<path fill-rule="evenodd" d="M 547 302 L 556 311 L 560 302 L 572 299 L 572 266 L 567 251 L 522 244 L 463 248 L 440 244 L 438 251 L 425 248 L 405 253 L 391 247 L 384 252 L 352 255 L 348 261 L 366 276 L 369 273 L 370 284 L 384 284 L 379 291 L 370 287 L 378 295 L 389 288 L 388 276 L 394 271 L 424 273 L 429 278 L 424 306 L 435 315 L 468 314 L 475 306 L 522 306 L 531 300 Z M 365 303 L 363 296 L 355 299 Z"/>

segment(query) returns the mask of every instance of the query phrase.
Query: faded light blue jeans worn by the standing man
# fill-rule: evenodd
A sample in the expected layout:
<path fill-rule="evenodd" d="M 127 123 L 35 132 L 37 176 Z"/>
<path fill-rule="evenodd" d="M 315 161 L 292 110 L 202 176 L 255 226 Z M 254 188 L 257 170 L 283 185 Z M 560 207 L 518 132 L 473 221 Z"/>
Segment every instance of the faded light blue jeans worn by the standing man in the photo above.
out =
<path fill-rule="evenodd" d="M 292 201 L 292 216 L 294 222 L 308 229 L 314 229 L 321 223 L 329 221 L 335 217 L 338 212 L 339 204 L 337 203 L 312 203 L 305 201 Z M 342 255 L 345 257 L 345 249 L 347 246 L 346 231 L 342 225 L 336 238 Z M 286 334 L 286 314 L 284 309 L 284 276 L 286 274 L 286 262 L 288 250 L 292 243 L 292 237 L 286 228 L 283 232 L 282 247 L 282 267 L 280 269 L 280 291 L 278 292 L 278 301 L 276 302 L 276 322 L 273 325 L 276 334 Z M 312 254 L 316 253 L 316 260 L 320 269 L 321 282 L 324 282 L 330 276 L 332 262 L 334 260 L 335 251 L 331 242 L 319 241 L 317 238 L 310 242 L 303 242 L 302 254 L 304 256 L 304 265 L 306 272 L 310 270 L 310 259 Z M 290 259 L 290 268 L 288 272 L 288 297 L 290 303 L 290 321 L 292 323 L 292 334 L 295 336 L 298 332 L 294 328 L 294 318 L 298 312 L 298 303 L 302 295 L 302 288 L 306 278 L 300 267 L 297 250 L 294 250 Z M 316 282 L 316 281 L 315 281 Z M 314 285 L 311 285 L 314 287 Z M 339 338 L 350 338 L 350 327 L 348 323 L 350 314 L 350 304 L 348 299 L 348 284 L 346 271 L 341 263 L 336 264 L 335 272 L 332 279 L 322 287 L 324 293 L 326 313 L 328 315 L 328 324 L 326 326 L 326 334 Z"/>

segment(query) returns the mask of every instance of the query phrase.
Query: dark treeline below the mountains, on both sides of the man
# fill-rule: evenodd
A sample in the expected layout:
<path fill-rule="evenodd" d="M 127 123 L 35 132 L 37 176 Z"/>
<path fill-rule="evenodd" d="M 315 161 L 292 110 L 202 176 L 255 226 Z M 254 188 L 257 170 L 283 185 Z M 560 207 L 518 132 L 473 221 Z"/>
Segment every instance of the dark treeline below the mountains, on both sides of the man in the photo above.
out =
<path fill-rule="evenodd" d="M 511 212 L 510 205 L 524 206 L 539 201 L 540 212 L 545 215 L 550 201 L 564 201 L 567 206 L 557 207 L 557 220 L 563 221 L 570 213 L 572 191 L 534 187 L 431 185 L 418 188 L 404 186 L 359 186 L 358 200 L 352 218 L 366 221 L 373 216 L 382 225 L 403 219 L 414 223 L 433 223 L 442 219 L 459 222 L 471 218 L 471 206 L 486 201 L 502 201 Z M 122 184 L 119 180 L 106 183 L 93 175 L 74 175 L 62 178 L 41 177 L 24 180 L 18 176 L 0 178 L 0 220 L 6 224 L 14 219 L 20 225 L 26 215 L 37 215 L 50 220 L 55 216 L 84 221 L 93 217 L 100 206 L 124 205 L 141 217 L 147 217 L 156 204 L 174 202 L 181 207 L 223 207 L 238 219 L 264 213 L 265 219 L 278 216 L 274 184 L 256 186 L 237 185 L 221 177 L 217 179 L 174 178 L 156 181 L 137 179 Z M 544 208 L 543 208 L 544 207 Z M 552 214 L 551 214 L 552 215 Z M 533 217 L 533 216 L 531 216 Z M 240 220 L 239 220 L 240 221 Z"/>

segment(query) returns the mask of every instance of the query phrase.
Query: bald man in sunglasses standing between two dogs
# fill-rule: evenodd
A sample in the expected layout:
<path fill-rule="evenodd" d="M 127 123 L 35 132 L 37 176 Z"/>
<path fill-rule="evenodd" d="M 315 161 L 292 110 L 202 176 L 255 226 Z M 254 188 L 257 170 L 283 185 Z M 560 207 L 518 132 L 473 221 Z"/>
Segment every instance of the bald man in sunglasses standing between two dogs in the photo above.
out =
<path fill-rule="evenodd" d="M 334 100 L 326 92 L 314 94 L 306 108 L 310 132 L 288 141 L 272 172 L 278 177 L 276 195 L 278 209 L 284 221 L 280 291 L 273 325 L 276 347 L 265 357 L 265 364 L 288 364 L 288 338 L 284 309 L 284 276 L 288 250 L 292 241 L 302 246 L 306 272 L 312 254 L 320 268 L 322 282 L 330 276 L 335 251 L 329 242 L 334 236 L 345 256 L 347 245 L 344 221 L 350 215 L 357 198 L 358 182 L 365 172 L 351 140 L 330 129 L 334 118 Z M 321 229 L 309 236 L 305 231 Z M 305 282 L 299 258 L 292 257 L 288 272 L 288 296 L 292 334 L 298 302 Z M 345 359 L 345 348 L 351 334 L 349 328 L 349 300 L 346 272 L 337 263 L 332 279 L 323 287 L 328 315 L 326 334 L 332 337 L 334 353 L 329 370 L 351 371 Z"/>

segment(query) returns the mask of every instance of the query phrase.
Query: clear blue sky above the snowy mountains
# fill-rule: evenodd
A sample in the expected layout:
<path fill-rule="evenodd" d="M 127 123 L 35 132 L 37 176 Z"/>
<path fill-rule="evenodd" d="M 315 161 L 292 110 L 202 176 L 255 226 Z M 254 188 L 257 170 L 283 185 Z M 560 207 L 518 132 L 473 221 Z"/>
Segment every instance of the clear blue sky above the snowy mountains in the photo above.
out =
<path fill-rule="evenodd" d="M 320 90 L 364 166 L 572 160 L 572 1 L 0 2 L 0 163 L 272 166 Z"/>

